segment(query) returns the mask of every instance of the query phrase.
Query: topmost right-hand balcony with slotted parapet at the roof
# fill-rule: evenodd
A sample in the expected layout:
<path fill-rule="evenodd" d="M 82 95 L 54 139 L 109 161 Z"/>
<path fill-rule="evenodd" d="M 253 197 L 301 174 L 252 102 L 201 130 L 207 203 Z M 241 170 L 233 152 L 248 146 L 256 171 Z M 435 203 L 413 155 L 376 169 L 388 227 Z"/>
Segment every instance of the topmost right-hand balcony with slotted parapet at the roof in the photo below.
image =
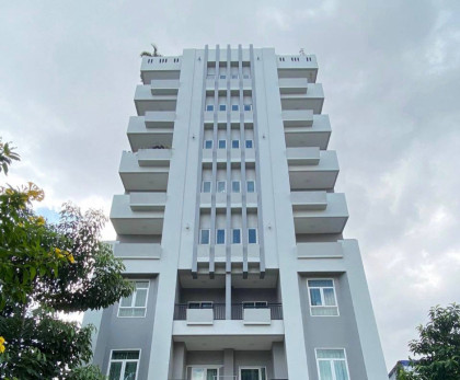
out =
<path fill-rule="evenodd" d="M 318 64 L 315 56 L 278 56 L 279 78 L 306 78 L 310 83 L 317 81 Z"/>

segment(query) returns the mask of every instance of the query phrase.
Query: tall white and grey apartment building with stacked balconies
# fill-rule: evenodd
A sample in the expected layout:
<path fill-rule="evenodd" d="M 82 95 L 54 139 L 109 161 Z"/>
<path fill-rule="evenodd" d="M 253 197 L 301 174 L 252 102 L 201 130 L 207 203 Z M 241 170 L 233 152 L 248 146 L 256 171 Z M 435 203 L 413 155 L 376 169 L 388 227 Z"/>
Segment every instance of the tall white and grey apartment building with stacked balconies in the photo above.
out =
<path fill-rule="evenodd" d="M 387 379 L 317 72 L 252 46 L 142 58 L 111 211 L 136 291 L 85 315 L 111 380 Z"/>

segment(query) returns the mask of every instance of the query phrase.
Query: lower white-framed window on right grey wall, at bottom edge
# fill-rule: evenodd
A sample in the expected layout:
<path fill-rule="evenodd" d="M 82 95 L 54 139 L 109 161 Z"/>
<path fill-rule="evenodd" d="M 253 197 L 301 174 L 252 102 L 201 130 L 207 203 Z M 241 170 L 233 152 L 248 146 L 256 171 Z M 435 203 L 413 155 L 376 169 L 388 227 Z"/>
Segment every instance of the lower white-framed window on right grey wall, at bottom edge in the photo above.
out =
<path fill-rule="evenodd" d="M 345 349 L 315 349 L 320 380 L 349 380 Z"/>

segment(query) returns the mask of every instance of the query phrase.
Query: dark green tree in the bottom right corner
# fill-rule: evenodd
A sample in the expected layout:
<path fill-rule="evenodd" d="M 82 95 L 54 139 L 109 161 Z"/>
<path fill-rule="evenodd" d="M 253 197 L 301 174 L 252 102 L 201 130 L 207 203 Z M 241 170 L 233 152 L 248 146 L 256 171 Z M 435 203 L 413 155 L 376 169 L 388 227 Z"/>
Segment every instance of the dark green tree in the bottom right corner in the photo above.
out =
<path fill-rule="evenodd" d="M 419 338 L 411 341 L 411 352 L 418 356 L 412 360 L 410 379 L 460 379 L 460 306 L 452 303 L 429 310 L 429 322 L 417 327 Z"/>

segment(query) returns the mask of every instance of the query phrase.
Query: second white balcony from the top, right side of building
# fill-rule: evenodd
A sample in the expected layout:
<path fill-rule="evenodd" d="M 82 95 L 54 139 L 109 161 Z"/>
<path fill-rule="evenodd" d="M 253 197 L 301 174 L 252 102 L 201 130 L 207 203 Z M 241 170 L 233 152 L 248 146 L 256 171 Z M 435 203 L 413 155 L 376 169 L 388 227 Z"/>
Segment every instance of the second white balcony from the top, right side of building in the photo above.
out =
<path fill-rule="evenodd" d="M 311 110 L 313 114 L 321 114 L 324 103 L 324 91 L 321 84 L 309 83 L 306 93 L 281 94 L 283 111 Z"/>

